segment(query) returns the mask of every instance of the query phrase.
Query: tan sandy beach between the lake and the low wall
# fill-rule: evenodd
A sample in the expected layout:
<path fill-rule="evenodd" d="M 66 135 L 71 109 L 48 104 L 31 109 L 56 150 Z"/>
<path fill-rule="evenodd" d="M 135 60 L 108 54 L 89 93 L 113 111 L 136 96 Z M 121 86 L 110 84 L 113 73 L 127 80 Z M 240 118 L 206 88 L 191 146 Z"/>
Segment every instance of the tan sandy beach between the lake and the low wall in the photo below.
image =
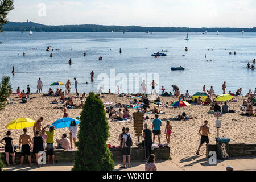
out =
<path fill-rule="evenodd" d="M 70 96 L 75 96 L 75 94 L 70 94 Z M 50 104 L 52 100 L 59 97 L 42 97 L 42 94 L 32 94 L 26 104 L 21 104 L 19 98 L 15 98 L 15 95 L 11 95 L 9 98 L 13 99 L 13 103 L 8 104 L 0 114 L 0 138 L 5 137 L 6 125 L 13 121 L 13 119 L 26 117 L 34 119 L 35 121 L 40 117 L 44 118 L 43 126 L 50 125 L 56 119 L 63 117 L 62 109 L 53 109 L 55 104 Z M 133 98 L 129 97 L 118 97 L 117 95 L 105 94 L 105 98 L 101 98 L 103 102 L 113 102 L 116 104 L 121 102 L 122 104 L 130 104 Z M 163 104 L 166 102 L 174 102 L 178 99 L 176 97 L 161 97 Z M 224 114 L 221 118 L 222 127 L 220 129 L 220 136 L 229 137 L 231 139 L 230 143 L 255 143 L 255 128 L 256 128 L 256 117 L 246 117 L 241 116 L 240 104 L 242 103 L 243 97 L 237 97 L 238 102 L 228 102 L 229 108 L 235 110 L 236 113 Z M 75 104 L 80 104 L 80 99 L 73 99 Z M 221 103 L 222 106 L 224 103 Z M 61 104 L 60 104 L 61 105 Z M 150 109 L 153 109 L 155 104 L 150 104 Z M 196 149 L 200 144 L 200 134 L 199 128 L 204 124 L 204 120 L 209 121 L 210 133 L 210 144 L 215 143 L 214 137 L 217 136 L 217 129 L 215 128 L 216 117 L 214 114 L 208 114 L 210 106 L 204 105 L 191 105 L 189 107 L 180 107 L 177 109 L 170 108 L 160 108 L 166 114 L 159 114 L 159 118 L 162 119 L 162 135 L 160 135 L 161 143 L 166 143 L 166 138 L 164 135 L 164 127 L 168 118 L 175 117 L 183 112 L 187 113 L 189 117 L 197 117 L 197 119 L 191 119 L 187 121 L 171 121 L 172 134 L 171 134 L 171 155 L 176 158 L 182 158 L 188 155 L 195 155 Z M 115 109 L 117 110 L 117 109 Z M 137 112 L 137 109 L 129 109 L 130 113 Z M 80 115 L 81 109 L 68 109 L 68 117 L 76 118 Z M 146 114 L 150 118 L 146 121 L 149 128 L 152 128 L 152 120 L 154 114 Z M 108 116 L 108 114 L 107 114 Z M 108 119 L 110 126 L 110 137 L 108 144 L 119 146 L 118 136 L 121 133 L 122 127 L 129 127 L 130 133 L 133 136 L 133 141 L 137 142 L 137 137 L 133 130 L 133 122 L 129 123 L 119 123 L 112 122 Z M 14 140 L 14 145 L 18 145 L 19 135 L 22 134 L 22 130 L 12 130 L 11 137 Z M 55 141 L 57 138 L 61 138 L 61 135 L 65 133 L 65 129 L 56 129 Z M 66 129 L 68 134 L 68 129 Z M 28 129 L 28 134 L 32 137 L 32 127 Z M 142 142 L 142 138 L 141 138 Z M 156 139 L 156 143 L 158 140 Z M 56 145 L 56 143 L 55 143 Z M 201 148 L 200 154 L 205 154 L 205 145 Z"/>

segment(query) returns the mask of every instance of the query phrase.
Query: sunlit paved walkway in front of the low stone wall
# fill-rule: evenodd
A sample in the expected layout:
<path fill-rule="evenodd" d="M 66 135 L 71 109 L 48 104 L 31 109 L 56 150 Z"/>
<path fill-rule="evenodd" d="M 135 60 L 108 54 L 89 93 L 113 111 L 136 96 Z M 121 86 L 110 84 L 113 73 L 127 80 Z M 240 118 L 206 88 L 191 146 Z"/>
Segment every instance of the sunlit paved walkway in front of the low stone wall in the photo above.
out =
<path fill-rule="evenodd" d="M 254 170 L 256 171 L 256 156 L 246 156 L 229 158 L 228 160 L 217 160 L 217 165 L 210 166 L 205 155 L 188 156 L 183 159 L 177 159 L 172 156 L 172 160 L 157 160 L 156 166 L 159 171 L 225 171 L 227 166 L 232 166 L 234 170 Z M 131 168 L 120 168 L 122 162 L 115 162 L 116 171 L 144 171 L 145 162 L 132 161 Z M 70 171 L 73 163 L 57 163 L 49 166 L 32 167 L 29 166 L 10 166 L 5 171 Z"/>

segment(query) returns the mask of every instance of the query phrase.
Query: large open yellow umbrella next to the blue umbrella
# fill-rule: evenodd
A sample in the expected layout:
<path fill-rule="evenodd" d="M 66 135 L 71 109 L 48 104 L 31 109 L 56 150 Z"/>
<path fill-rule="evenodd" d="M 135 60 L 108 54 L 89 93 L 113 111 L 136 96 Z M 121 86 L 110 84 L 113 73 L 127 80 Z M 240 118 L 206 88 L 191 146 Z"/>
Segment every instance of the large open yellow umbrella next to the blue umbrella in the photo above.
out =
<path fill-rule="evenodd" d="M 6 128 L 9 130 L 19 130 L 24 129 L 26 127 L 34 126 L 35 121 L 30 118 L 18 118 L 11 121 Z"/>

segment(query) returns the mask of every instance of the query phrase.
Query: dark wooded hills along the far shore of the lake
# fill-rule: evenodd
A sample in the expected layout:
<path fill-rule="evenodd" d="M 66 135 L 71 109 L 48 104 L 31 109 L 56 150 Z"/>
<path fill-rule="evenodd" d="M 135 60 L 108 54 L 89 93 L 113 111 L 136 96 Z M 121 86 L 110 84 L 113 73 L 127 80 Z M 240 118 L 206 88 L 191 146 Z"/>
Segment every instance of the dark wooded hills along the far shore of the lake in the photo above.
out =
<path fill-rule="evenodd" d="M 46 26 L 43 24 L 9 22 L 3 31 L 34 31 L 34 32 L 256 32 L 254 28 L 188 28 L 188 27 L 139 27 L 139 26 L 102 26 L 95 24 Z"/>

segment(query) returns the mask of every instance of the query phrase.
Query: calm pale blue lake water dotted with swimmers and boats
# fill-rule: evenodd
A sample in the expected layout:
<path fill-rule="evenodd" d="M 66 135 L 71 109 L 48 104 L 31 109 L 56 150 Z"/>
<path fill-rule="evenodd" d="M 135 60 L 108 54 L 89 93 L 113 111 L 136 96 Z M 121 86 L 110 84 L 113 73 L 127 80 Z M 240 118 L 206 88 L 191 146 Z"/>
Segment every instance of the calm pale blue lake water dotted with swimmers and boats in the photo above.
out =
<path fill-rule="evenodd" d="M 241 87 L 242 93 L 246 94 L 249 89 L 254 90 L 256 70 L 247 69 L 246 65 L 256 58 L 255 33 L 220 32 L 220 35 L 216 35 L 198 32 L 189 34 L 189 41 L 184 40 L 186 35 L 181 32 L 34 32 L 32 35 L 28 35 L 28 32 L 3 32 L 0 34 L 0 41 L 3 42 L 0 44 L 0 75 L 11 77 L 14 92 L 18 86 L 26 90 L 28 84 L 32 93 L 36 92 L 39 77 L 44 84 L 43 92 L 49 88 L 55 90 L 57 86 L 49 86 L 53 82 L 65 83 L 70 79 L 74 93 L 74 77 L 79 81 L 79 93 L 97 92 L 102 82 L 97 77 L 101 73 L 113 79 L 110 69 L 115 69 L 115 76 L 118 73 L 124 73 L 127 77 L 129 73 L 145 73 L 150 76 L 148 73 L 152 73 L 154 78 L 154 74 L 158 73 L 159 77 L 155 75 L 155 80 L 159 84 L 159 92 L 162 86 L 172 91 L 171 85 L 177 85 L 181 93 L 188 89 L 193 94 L 201 92 L 205 84 L 207 90 L 213 86 L 216 93 L 221 94 L 224 81 L 228 91 L 236 92 Z M 60 51 L 47 52 L 48 45 Z M 31 50 L 34 47 L 37 50 Z M 122 54 L 119 48 L 122 48 Z M 156 59 L 151 56 L 162 49 L 168 49 L 166 57 Z M 23 51 L 26 56 L 23 56 Z M 229 51 L 232 55 L 229 55 Z M 52 58 L 50 53 L 53 54 Z M 102 61 L 98 60 L 100 56 L 103 57 Z M 72 59 L 72 65 L 68 64 L 69 58 Z M 207 59 L 213 61 L 207 62 Z M 11 74 L 12 65 L 15 67 L 14 76 Z M 185 68 L 184 71 L 171 71 L 171 67 L 180 65 Z M 92 70 L 96 76 L 94 82 L 90 81 Z M 148 85 L 153 78 L 148 78 Z M 115 81 L 115 85 L 109 84 L 112 92 L 118 82 Z M 127 90 L 131 85 L 127 81 Z M 137 84 L 134 88 L 140 87 Z"/>

